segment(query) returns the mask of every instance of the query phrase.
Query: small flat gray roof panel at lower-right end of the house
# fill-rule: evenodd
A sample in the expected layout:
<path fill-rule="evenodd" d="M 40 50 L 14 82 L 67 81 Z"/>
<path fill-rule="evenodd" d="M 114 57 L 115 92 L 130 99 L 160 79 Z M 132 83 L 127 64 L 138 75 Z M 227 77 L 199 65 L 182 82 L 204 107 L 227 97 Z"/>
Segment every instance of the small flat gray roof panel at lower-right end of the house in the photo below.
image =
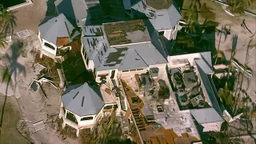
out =
<path fill-rule="evenodd" d="M 212 107 L 205 109 L 193 109 L 190 110 L 190 113 L 199 124 L 210 122 L 223 122 L 222 117 Z"/>

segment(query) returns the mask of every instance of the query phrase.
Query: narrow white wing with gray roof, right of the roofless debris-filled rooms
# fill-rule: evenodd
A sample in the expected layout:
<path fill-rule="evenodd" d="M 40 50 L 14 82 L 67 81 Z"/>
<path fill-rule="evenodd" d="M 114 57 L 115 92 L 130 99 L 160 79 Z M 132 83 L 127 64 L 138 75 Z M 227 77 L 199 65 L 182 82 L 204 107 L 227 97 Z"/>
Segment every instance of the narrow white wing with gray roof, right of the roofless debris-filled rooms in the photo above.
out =
<path fill-rule="evenodd" d="M 222 122 L 223 107 L 218 105 L 218 91 L 214 86 L 212 75 L 212 61 L 210 52 L 182 54 L 168 57 L 168 67 L 170 69 L 191 70 L 194 67 L 194 74 L 198 77 L 198 83 L 204 95 L 204 101 L 208 106 L 202 108 L 190 109 L 190 114 L 193 116 L 198 125 L 203 127 L 203 132 L 220 131 Z M 194 101 L 190 99 L 190 101 Z M 194 101 L 195 102 L 195 101 Z M 206 105 L 206 104 L 205 104 Z M 181 110 L 182 111 L 182 110 Z M 186 111 L 186 110 L 185 110 Z"/>

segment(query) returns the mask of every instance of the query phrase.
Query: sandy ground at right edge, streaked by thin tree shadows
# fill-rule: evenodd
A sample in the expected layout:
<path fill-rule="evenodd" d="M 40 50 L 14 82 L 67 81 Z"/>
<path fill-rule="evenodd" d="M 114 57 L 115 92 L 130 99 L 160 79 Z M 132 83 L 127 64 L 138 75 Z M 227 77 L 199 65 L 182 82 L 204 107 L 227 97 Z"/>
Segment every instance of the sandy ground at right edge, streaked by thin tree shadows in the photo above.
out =
<path fill-rule="evenodd" d="M 221 27 L 225 25 L 227 25 L 227 27 L 230 26 L 231 34 L 227 36 L 226 40 L 222 36 L 222 41 L 220 44 L 220 50 L 224 51 L 227 59 L 230 58 L 233 37 L 236 34 L 238 35 L 235 58 L 238 59 L 238 62 L 240 62 L 242 65 L 244 65 L 246 61 L 246 46 L 248 45 L 250 40 L 252 40 L 250 43 L 251 45 L 256 44 L 256 17 L 247 16 L 243 18 L 246 19 L 246 26 L 252 31 L 253 34 L 250 34 L 250 32 L 244 29 L 242 26 L 232 23 L 227 19 L 221 19 L 221 23 L 218 26 L 218 29 L 221 29 Z M 241 18 L 241 22 L 243 18 Z M 216 47 L 218 47 L 218 34 L 216 34 L 215 40 Z M 243 80 L 242 89 L 246 90 L 246 93 L 250 95 L 250 98 L 252 98 L 253 102 L 256 102 L 256 46 L 249 50 L 249 60 L 247 65 L 253 70 L 254 78 L 246 76 Z"/>

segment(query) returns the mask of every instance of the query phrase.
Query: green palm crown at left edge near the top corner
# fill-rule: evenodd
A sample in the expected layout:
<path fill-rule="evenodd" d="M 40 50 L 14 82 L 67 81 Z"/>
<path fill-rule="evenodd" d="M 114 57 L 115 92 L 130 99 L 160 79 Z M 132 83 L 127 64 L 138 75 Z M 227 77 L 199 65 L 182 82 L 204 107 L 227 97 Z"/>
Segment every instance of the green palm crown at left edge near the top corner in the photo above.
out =
<path fill-rule="evenodd" d="M 16 26 L 16 17 L 13 12 L 7 11 L 2 5 L 0 5 L 0 33 L 6 34 L 12 32 Z"/>

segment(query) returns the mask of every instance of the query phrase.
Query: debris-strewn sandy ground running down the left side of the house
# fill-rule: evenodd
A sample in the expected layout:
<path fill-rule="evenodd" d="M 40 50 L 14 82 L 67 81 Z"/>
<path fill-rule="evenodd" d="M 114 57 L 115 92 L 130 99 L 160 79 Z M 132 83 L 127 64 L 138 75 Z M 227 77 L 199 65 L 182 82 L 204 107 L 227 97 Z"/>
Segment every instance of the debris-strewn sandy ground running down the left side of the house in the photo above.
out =
<path fill-rule="evenodd" d="M 28 90 L 30 82 L 32 79 L 37 78 L 38 74 L 33 68 L 33 51 L 39 50 L 40 48 L 38 42 L 38 24 L 45 17 L 47 9 L 46 0 L 33 0 L 33 2 L 34 4 L 32 6 L 26 6 L 14 12 L 14 15 L 17 18 L 17 26 L 14 29 L 14 33 L 20 30 L 29 30 L 31 34 L 30 37 L 21 39 L 23 46 L 14 46 L 14 42 L 17 41 L 13 39 L 13 42 L 10 43 L 8 48 L 0 51 L 1 55 L 4 55 L 5 57 L 1 59 L 0 65 L 10 65 L 12 69 L 12 86 L 16 86 L 15 90 L 9 90 L 9 95 L 15 95 L 16 98 L 18 98 L 19 107 L 22 110 L 22 119 L 30 121 L 26 122 L 26 125 L 30 131 L 30 138 L 34 143 L 76 144 L 78 143 L 77 140 L 60 138 L 58 132 L 51 128 L 51 123 L 46 122 L 48 120 L 47 115 L 58 116 L 62 90 L 57 90 L 53 86 L 50 86 L 50 84 L 43 83 L 42 88 L 45 91 L 47 98 L 42 96 L 40 90 L 36 92 Z M 22 52 L 15 52 L 15 50 L 13 50 L 14 47 L 23 47 Z M 23 54 L 23 51 L 26 51 L 26 54 Z M 6 56 L 9 58 L 6 58 Z M 0 84 L 1 93 L 5 94 L 5 86 L 5 83 Z M 12 91 L 13 93 L 11 93 Z M 14 108 L 18 109 L 18 106 L 16 105 Z M 42 120 L 46 122 L 46 129 L 34 133 L 35 129 L 33 123 Z"/>

